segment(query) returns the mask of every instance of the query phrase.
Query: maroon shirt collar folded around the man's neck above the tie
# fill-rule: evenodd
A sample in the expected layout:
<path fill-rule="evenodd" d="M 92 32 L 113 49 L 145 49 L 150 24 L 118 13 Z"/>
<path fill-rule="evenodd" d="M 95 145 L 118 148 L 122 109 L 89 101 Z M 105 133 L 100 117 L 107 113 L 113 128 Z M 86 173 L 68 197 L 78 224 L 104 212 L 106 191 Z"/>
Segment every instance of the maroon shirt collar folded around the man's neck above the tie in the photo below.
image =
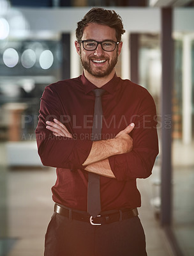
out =
<path fill-rule="evenodd" d="M 91 92 L 92 90 L 98 88 L 96 85 L 94 85 L 89 80 L 87 80 L 87 78 L 84 76 L 84 72 L 80 76 L 80 79 L 81 79 L 82 84 L 83 84 L 83 90 L 86 94 Z M 114 77 L 112 77 L 112 79 L 108 83 L 101 86 L 101 89 L 104 89 L 108 93 L 111 93 L 111 94 L 114 93 L 116 91 L 116 86 L 119 82 L 118 80 L 119 80 L 119 77 L 117 77 L 117 75 L 115 73 Z"/>

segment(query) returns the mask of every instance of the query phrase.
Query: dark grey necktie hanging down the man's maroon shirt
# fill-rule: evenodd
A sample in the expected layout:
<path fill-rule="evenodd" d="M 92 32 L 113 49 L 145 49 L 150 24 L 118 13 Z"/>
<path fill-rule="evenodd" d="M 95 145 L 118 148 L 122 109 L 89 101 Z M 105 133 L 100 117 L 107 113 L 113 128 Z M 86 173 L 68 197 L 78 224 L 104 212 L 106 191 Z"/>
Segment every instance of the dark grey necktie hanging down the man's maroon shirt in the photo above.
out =
<path fill-rule="evenodd" d="M 101 140 L 101 126 L 102 126 L 102 106 L 101 95 L 105 92 L 103 89 L 93 90 L 95 95 L 94 118 L 92 140 Z M 100 204 L 100 176 L 95 173 L 88 173 L 88 187 L 87 187 L 87 212 L 96 218 L 101 212 Z"/>

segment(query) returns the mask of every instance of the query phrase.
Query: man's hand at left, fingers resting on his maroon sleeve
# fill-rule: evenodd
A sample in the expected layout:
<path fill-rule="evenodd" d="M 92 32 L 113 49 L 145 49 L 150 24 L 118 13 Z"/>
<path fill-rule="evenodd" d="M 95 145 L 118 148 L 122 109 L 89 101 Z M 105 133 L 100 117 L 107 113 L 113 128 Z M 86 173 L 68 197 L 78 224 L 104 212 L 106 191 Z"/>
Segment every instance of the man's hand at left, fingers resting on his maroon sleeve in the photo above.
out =
<path fill-rule="evenodd" d="M 59 122 L 59 120 L 57 120 L 56 118 L 54 118 L 54 122 L 47 121 L 46 124 L 46 128 L 52 131 L 52 134 L 54 134 L 54 136 L 73 138 L 68 129 L 66 129 L 65 125 Z"/>

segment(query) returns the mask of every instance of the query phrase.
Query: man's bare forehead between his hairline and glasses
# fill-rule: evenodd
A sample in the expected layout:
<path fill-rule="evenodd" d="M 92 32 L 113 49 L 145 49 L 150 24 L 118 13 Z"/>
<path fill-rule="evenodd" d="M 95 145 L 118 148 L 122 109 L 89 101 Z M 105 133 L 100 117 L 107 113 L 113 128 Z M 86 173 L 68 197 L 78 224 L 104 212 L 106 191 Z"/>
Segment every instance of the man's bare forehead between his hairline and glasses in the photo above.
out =
<path fill-rule="evenodd" d="M 84 33 L 82 40 L 94 39 L 96 41 L 103 41 L 105 39 L 110 39 L 116 41 L 116 30 L 110 28 L 109 26 L 89 23 L 86 28 L 84 28 Z"/>

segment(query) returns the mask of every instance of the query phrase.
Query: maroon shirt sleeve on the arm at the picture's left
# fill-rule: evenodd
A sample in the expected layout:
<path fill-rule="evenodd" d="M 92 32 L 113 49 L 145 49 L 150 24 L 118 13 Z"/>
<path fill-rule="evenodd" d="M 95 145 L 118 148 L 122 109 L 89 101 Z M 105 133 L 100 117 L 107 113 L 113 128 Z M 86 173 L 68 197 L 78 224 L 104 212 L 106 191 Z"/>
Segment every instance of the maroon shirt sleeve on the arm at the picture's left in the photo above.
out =
<path fill-rule="evenodd" d="M 57 168 L 80 169 L 82 163 L 87 159 L 91 150 L 92 141 L 78 140 L 77 138 L 66 138 L 54 136 L 46 129 L 47 120 L 63 120 L 65 115 L 59 97 L 52 86 L 47 86 L 40 102 L 40 115 L 36 127 L 36 141 L 38 154 L 45 166 Z M 65 124 L 68 131 L 71 127 Z"/>

